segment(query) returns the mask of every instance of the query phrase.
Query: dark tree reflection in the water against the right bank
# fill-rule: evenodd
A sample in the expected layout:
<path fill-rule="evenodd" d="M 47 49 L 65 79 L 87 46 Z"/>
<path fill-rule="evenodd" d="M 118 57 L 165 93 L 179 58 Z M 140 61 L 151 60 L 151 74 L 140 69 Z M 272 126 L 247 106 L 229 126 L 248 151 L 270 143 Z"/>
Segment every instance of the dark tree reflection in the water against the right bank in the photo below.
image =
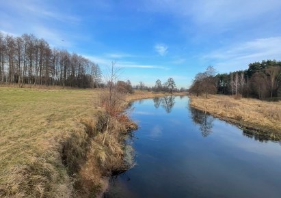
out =
<path fill-rule="evenodd" d="M 200 126 L 201 134 L 203 137 L 209 136 L 213 131 L 213 116 L 204 111 L 200 111 L 193 107 L 189 107 L 191 118 L 195 124 Z"/>

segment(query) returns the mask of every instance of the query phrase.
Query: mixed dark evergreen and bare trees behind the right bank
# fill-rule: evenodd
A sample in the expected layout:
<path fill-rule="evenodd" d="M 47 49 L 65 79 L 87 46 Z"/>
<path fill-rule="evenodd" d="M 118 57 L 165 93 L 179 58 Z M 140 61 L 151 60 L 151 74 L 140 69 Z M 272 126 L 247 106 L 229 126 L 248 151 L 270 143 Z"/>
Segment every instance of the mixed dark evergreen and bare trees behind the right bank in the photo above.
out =
<path fill-rule="evenodd" d="M 196 74 L 189 91 L 200 94 L 227 94 L 250 98 L 277 97 L 281 87 L 281 61 L 250 63 L 247 70 L 217 74 L 212 66 Z"/>

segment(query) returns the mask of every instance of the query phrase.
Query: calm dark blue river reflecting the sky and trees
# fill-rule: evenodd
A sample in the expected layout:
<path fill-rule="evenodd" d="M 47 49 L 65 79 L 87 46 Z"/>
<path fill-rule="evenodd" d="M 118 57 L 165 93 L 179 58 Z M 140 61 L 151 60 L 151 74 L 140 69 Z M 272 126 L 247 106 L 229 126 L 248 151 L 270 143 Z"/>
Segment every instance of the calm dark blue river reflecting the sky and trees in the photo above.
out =
<path fill-rule="evenodd" d="M 105 197 L 281 197 L 281 145 L 188 106 L 134 102 L 136 165 Z"/>

